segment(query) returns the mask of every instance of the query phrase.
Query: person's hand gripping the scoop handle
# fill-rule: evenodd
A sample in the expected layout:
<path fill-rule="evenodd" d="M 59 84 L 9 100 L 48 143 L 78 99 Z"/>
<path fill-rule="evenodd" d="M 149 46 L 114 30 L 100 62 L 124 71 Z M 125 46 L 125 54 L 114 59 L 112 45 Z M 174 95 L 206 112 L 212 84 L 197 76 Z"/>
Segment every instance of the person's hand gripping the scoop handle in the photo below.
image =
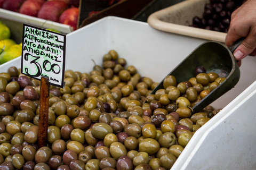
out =
<path fill-rule="evenodd" d="M 246 37 L 233 55 L 240 61 L 247 55 L 256 55 L 256 1 L 247 0 L 231 14 L 230 27 L 226 36 L 226 46 Z"/>

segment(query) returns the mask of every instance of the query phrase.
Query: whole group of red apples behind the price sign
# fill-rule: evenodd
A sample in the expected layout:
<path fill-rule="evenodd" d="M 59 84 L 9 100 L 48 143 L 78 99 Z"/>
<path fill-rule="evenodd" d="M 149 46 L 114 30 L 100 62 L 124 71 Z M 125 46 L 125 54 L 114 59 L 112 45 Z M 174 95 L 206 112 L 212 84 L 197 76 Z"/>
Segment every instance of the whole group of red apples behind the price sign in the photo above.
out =
<path fill-rule="evenodd" d="M 77 29 L 79 0 L 0 0 L 0 8 Z"/>

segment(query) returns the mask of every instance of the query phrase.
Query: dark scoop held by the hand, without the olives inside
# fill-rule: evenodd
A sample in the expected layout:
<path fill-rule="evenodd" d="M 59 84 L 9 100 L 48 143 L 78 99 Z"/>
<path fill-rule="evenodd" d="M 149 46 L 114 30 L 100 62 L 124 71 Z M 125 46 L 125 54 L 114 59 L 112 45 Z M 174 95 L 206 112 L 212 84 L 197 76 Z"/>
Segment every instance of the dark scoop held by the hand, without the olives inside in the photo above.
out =
<path fill-rule="evenodd" d="M 168 74 L 173 75 L 178 84 L 195 77 L 196 67 L 203 66 L 206 73 L 215 72 L 219 74 L 219 77 L 226 78 L 217 88 L 211 91 L 209 95 L 204 97 L 192 108 L 193 113 L 200 112 L 214 100 L 218 99 L 227 91 L 235 87 L 240 78 L 240 70 L 233 56 L 233 52 L 242 43 L 242 41 L 243 39 L 239 39 L 230 48 L 218 42 L 206 42 L 198 46 L 185 58 L 185 60 L 183 60 Z M 155 94 L 157 90 L 163 89 L 163 81 L 164 80 L 158 84 L 151 94 Z"/>

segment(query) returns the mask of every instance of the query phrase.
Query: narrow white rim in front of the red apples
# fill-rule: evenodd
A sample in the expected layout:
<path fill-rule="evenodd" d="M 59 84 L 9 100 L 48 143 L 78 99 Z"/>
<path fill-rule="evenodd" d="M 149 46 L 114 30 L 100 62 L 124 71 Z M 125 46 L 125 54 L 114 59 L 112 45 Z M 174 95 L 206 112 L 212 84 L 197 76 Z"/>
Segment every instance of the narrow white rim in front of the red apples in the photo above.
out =
<path fill-rule="evenodd" d="M 44 20 L 44 19 L 36 18 L 34 16 L 20 14 L 18 12 L 4 10 L 2 8 L 0 8 L 0 18 L 9 19 L 9 20 L 13 20 L 21 23 L 27 23 L 30 25 L 35 25 L 36 27 L 40 27 L 40 28 L 51 28 L 65 34 L 73 31 L 73 28 L 66 24 Z"/>

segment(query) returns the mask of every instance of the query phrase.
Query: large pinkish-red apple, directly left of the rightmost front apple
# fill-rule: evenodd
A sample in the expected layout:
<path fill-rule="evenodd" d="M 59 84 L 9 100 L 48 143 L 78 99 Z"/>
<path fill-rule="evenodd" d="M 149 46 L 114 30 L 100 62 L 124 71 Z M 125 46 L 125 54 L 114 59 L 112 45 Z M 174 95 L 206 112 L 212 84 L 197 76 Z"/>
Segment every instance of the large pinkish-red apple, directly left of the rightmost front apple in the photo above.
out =
<path fill-rule="evenodd" d="M 68 4 L 63 1 L 46 1 L 38 11 L 37 17 L 59 22 L 60 14 L 67 10 L 67 8 Z"/>

